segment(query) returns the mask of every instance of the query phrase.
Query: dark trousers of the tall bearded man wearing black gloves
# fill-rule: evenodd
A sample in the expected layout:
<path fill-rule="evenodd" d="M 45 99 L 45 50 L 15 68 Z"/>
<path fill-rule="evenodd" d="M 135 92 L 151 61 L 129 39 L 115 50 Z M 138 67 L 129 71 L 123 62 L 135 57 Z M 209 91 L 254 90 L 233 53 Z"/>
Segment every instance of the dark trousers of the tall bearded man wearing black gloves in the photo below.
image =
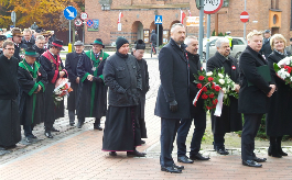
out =
<path fill-rule="evenodd" d="M 164 167 L 172 167 L 174 161 L 172 159 L 173 142 L 177 128 L 180 126 L 180 119 L 161 119 L 161 155 L 160 165 Z"/>

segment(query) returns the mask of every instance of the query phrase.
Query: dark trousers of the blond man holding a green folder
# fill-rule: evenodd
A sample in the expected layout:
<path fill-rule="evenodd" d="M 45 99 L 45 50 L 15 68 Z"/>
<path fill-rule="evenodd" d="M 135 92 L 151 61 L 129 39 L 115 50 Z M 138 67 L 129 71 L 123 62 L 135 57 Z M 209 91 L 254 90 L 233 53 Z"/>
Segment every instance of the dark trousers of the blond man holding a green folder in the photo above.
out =
<path fill-rule="evenodd" d="M 252 160 L 255 158 L 255 137 L 260 127 L 263 114 L 244 114 L 245 124 L 241 134 L 241 159 Z"/>

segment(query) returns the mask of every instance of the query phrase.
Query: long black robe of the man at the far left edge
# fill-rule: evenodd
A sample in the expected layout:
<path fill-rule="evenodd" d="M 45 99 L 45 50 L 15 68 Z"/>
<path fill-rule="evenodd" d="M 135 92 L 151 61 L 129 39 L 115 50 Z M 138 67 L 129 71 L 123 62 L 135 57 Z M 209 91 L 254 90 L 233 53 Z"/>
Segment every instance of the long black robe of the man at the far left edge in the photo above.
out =
<path fill-rule="evenodd" d="M 0 145 L 12 146 L 21 140 L 18 105 L 18 68 L 15 57 L 0 55 Z"/>

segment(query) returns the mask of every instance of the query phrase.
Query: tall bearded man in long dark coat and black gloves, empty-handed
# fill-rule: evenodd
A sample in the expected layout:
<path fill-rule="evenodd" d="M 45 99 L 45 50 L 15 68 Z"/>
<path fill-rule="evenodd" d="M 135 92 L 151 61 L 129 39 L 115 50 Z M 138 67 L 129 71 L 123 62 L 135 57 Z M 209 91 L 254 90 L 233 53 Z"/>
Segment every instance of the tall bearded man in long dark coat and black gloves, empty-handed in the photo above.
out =
<path fill-rule="evenodd" d="M 171 41 L 159 54 L 161 86 L 158 92 L 154 114 L 161 117 L 162 171 L 181 173 L 183 166 L 176 166 L 172 158 L 173 142 L 181 119 L 190 119 L 188 63 L 184 55 L 185 27 L 175 23 L 171 27 Z"/>

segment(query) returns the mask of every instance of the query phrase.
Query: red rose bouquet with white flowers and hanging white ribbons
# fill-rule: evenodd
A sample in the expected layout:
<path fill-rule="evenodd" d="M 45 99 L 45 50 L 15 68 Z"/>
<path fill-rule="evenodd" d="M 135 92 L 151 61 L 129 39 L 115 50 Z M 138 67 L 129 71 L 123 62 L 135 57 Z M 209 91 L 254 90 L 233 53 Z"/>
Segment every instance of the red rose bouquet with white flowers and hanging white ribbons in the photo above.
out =
<path fill-rule="evenodd" d="M 221 103 L 223 103 L 223 90 L 219 85 L 214 82 L 215 79 L 218 79 L 216 70 L 214 72 L 206 72 L 205 69 L 198 71 L 198 75 L 194 75 L 197 83 L 197 88 L 199 91 L 197 92 L 193 104 L 196 105 L 198 98 L 201 97 L 204 100 L 204 109 L 205 111 L 215 110 L 215 115 L 220 116 L 221 114 Z"/>

